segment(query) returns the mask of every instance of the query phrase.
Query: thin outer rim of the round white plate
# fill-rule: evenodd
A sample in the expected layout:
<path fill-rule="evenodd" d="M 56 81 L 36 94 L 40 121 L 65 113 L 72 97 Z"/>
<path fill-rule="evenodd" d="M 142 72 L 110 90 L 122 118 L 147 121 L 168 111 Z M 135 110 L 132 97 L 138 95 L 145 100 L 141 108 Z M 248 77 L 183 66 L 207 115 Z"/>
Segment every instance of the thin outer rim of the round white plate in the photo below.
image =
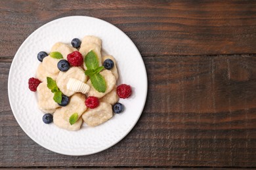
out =
<path fill-rule="evenodd" d="M 145 79 L 146 79 L 146 86 L 144 87 L 144 93 L 145 93 L 145 97 L 144 97 L 144 101 L 142 102 L 142 107 L 141 107 L 141 110 L 138 114 L 138 118 L 137 120 L 135 120 L 133 126 L 131 126 L 131 128 L 129 128 L 125 135 L 123 135 L 123 137 L 121 137 L 119 140 L 117 140 L 115 143 L 113 144 L 110 144 L 109 146 L 107 146 L 106 148 L 102 148 L 100 150 L 96 150 L 95 152 L 91 152 L 90 154 L 68 154 L 68 153 L 64 153 L 64 152 L 58 152 L 56 150 L 52 150 L 51 148 L 48 148 L 47 146 L 43 146 L 43 144 L 40 143 L 40 141 L 37 141 L 36 139 L 34 139 L 31 135 L 29 135 L 28 131 L 25 130 L 25 128 L 22 126 L 22 124 L 19 122 L 19 120 L 16 118 L 16 114 L 12 111 L 12 114 L 14 115 L 14 118 L 16 119 L 16 121 L 18 122 L 18 125 L 21 127 L 21 129 L 26 133 L 26 135 L 28 135 L 28 137 L 30 137 L 35 143 L 39 144 L 40 146 L 42 146 L 43 148 L 46 148 L 47 150 L 51 150 L 52 152 L 55 152 L 55 153 L 58 153 L 58 154 L 63 154 L 63 155 L 68 155 L 68 156 L 86 156 L 86 155 L 91 155 L 91 154 L 96 154 L 98 152 L 102 152 L 103 150 L 106 150 L 108 148 L 111 148 L 112 146 L 114 146 L 115 144 L 119 143 L 119 141 L 121 141 L 122 139 L 124 139 L 130 132 L 131 130 L 133 129 L 133 127 L 135 127 L 135 125 L 137 124 L 137 122 L 139 121 L 139 118 L 142 114 L 142 111 L 144 110 L 144 106 L 146 104 L 146 97 L 147 97 L 147 94 L 148 94 L 148 76 L 146 74 L 146 66 L 144 64 L 144 61 L 142 59 L 142 56 L 137 48 L 137 46 L 135 46 L 134 42 L 131 41 L 131 39 L 123 32 L 121 31 L 121 29 L 119 29 L 118 27 L 116 27 L 116 25 L 113 25 L 113 24 L 110 24 L 109 22 L 106 22 L 104 20 L 101 20 L 99 18 L 94 18 L 94 17 L 91 17 L 91 16 L 65 16 L 65 17 L 62 17 L 62 18 L 58 18 L 56 20 L 52 20 L 51 22 L 47 22 L 46 24 L 43 24 L 41 25 L 41 27 L 37 28 L 35 31 L 33 31 L 33 33 L 31 33 L 26 39 L 24 42 L 22 42 L 22 44 L 20 45 L 20 47 L 18 48 L 16 54 L 14 55 L 14 58 L 12 59 L 12 63 L 11 63 L 11 67 L 10 67 L 10 70 L 9 70 L 9 76 L 8 76 L 8 97 L 9 97 L 9 103 L 10 103 L 10 106 L 11 106 L 11 110 L 13 110 L 13 106 L 12 106 L 12 103 L 11 103 L 11 100 L 10 100 L 10 96 L 11 96 L 11 93 L 10 93 L 10 88 L 11 88 L 11 84 L 10 84 L 10 75 L 12 73 L 12 67 L 13 67 L 13 62 L 16 60 L 16 55 L 18 54 L 18 52 L 22 49 L 22 47 L 24 46 L 24 44 L 28 41 L 28 39 L 30 39 L 30 37 L 33 36 L 34 33 L 37 33 L 38 31 L 40 31 L 41 29 L 43 29 L 43 27 L 45 27 L 45 25 L 48 25 L 48 24 L 51 24 L 52 22 L 57 22 L 58 20 L 65 20 L 66 18 L 90 18 L 90 19 L 93 19 L 93 20 L 99 20 L 100 22 L 104 22 L 105 24 L 108 24 L 108 25 L 112 25 L 114 26 L 116 29 L 118 29 L 125 37 L 127 37 L 127 39 L 129 39 L 129 41 L 131 42 L 131 44 L 133 44 L 133 46 L 135 47 L 136 51 L 138 52 L 139 56 L 140 56 L 140 59 L 141 59 L 141 62 L 144 66 L 144 69 L 143 69 L 143 74 L 145 76 Z"/>

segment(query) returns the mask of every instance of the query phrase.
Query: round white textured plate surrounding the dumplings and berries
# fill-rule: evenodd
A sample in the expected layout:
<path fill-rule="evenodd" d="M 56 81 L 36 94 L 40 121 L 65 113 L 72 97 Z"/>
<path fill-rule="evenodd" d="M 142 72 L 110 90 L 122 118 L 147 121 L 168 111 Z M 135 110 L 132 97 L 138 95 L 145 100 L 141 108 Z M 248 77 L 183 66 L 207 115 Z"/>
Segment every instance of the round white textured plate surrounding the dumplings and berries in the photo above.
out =
<path fill-rule="evenodd" d="M 28 89 L 28 78 L 35 76 L 39 65 L 37 53 L 49 52 L 55 42 L 70 43 L 75 37 L 82 39 L 85 35 L 102 39 L 102 48 L 116 58 L 120 75 L 118 84 L 130 84 L 133 95 L 119 100 L 125 105 L 123 113 L 115 114 L 100 126 L 83 124 L 79 131 L 66 131 L 54 124 L 44 124 L 36 95 Z M 25 133 L 53 152 L 74 156 L 100 152 L 123 139 L 139 120 L 147 88 L 145 65 L 131 39 L 114 25 L 88 16 L 60 18 L 39 27 L 16 52 L 8 80 L 12 112 Z"/>

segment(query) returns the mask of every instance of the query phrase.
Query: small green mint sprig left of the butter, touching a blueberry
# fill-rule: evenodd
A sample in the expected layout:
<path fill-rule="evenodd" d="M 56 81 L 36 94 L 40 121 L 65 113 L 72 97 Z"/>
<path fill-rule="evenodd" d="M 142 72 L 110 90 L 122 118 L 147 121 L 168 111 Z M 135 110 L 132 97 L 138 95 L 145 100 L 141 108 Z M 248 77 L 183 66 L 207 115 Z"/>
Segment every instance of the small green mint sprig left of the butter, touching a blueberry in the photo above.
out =
<path fill-rule="evenodd" d="M 53 100 L 60 104 L 62 100 L 62 92 L 58 89 L 56 81 L 47 76 L 47 87 L 54 93 Z"/>

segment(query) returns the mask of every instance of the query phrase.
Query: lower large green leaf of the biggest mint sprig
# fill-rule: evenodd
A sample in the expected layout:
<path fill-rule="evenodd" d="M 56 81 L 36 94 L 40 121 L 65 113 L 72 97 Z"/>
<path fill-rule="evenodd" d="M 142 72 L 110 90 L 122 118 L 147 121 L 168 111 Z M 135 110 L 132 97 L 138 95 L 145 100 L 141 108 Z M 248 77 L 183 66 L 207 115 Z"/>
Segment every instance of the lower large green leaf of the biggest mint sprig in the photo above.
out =
<path fill-rule="evenodd" d="M 97 90 L 98 92 L 106 92 L 106 82 L 105 79 L 100 73 L 97 73 L 93 76 L 90 76 L 91 78 L 91 84 Z"/>

